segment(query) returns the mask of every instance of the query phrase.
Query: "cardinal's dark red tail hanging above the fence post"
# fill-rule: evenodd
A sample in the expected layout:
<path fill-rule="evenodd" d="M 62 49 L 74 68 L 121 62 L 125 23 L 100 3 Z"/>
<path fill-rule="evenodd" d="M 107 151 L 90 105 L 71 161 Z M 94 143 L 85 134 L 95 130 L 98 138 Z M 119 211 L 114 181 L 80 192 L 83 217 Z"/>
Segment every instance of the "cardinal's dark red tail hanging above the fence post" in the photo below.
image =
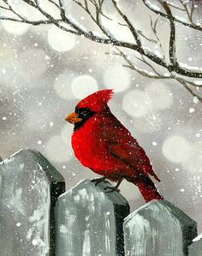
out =
<path fill-rule="evenodd" d="M 157 191 L 157 188 L 154 182 L 151 181 L 149 176 L 141 176 L 139 178 L 134 178 L 133 180 L 129 180 L 128 182 L 134 183 L 140 189 L 140 193 L 146 200 L 146 203 L 151 201 L 152 199 L 161 200 L 163 196 Z"/>

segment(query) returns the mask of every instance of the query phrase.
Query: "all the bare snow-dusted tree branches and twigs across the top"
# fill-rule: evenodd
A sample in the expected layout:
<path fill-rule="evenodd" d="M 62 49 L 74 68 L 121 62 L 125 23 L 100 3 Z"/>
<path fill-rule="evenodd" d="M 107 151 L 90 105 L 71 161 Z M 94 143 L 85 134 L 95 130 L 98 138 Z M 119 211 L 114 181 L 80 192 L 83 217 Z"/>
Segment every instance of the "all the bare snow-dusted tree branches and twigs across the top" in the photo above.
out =
<path fill-rule="evenodd" d="M 187 3 L 182 2 L 179 0 L 179 3 L 183 3 L 182 7 L 184 8 L 183 11 L 187 13 L 187 16 L 189 18 L 190 24 L 181 21 L 178 18 L 176 18 L 174 15 L 172 15 L 171 9 L 170 8 L 175 8 L 179 9 L 182 11 L 181 8 L 178 8 L 177 6 L 174 6 L 173 4 L 167 3 L 166 1 L 163 0 L 158 0 L 158 3 L 161 4 L 163 7 L 165 13 L 161 11 L 161 9 L 155 9 L 153 8 L 147 0 L 142 0 L 145 5 L 151 9 L 152 12 L 156 13 L 157 15 L 161 15 L 164 18 L 166 18 L 169 21 L 169 62 L 165 60 L 165 56 L 163 54 L 163 57 L 159 57 L 155 51 L 150 51 L 148 48 L 146 48 L 145 45 L 143 45 L 143 42 L 141 41 L 140 37 L 143 37 L 150 41 L 151 43 L 155 43 L 160 45 L 161 51 L 163 52 L 163 47 L 161 44 L 160 39 L 157 36 L 157 21 L 156 20 L 154 23 L 151 20 L 151 29 L 152 32 L 154 33 L 156 40 L 153 39 L 148 39 L 146 35 L 140 30 L 137 30 L 134 24 L 129 21 L 129 18 L 124 12 L 122 11 L 122 8 L 118 5 L 116 0 L 110 0 L 111 3 L 113 3 L 113 6 L 116 10 L 116 14 L 119 15 L 120 18 L 125 22 L 120 23 L 117 22 L 118 25 L 128 27 L 130 30 L 130 33 L 134 37 L 134 42 L 129 43 L 124 40 L 116 39 L 116 37 L 113 35 L 113 31 L 110 31 L 107 27 L 104 27 L 104 24 L 101 20 L 101 16 L 103 15 L 105 18 L 108 18 L 107 15 L 104 14 L 104 0 L 83 0 L 82 3 L 78 0 L 72 0 L 74 3 L 76 3 L 81 9 L 84 9 L 86 11 L 86 14 L 89 15 L 91 18 L 92 22 L 94 22 L 97 27 L 101 30 L 101 32 L 104 35 L 98 35 L 98 33 L 94 33 L 91 30 L 87 30 L 85 27 L 81 27 L 80 23 L 78 21 L 74 21 L 72 17 L 69 15 L 66 15 L 63 2 L 62 0 L 58 0 L 56 3 L 54 0 L 48 0 L 50 3 L 54 4 L 57 9 L 60 11 L 61 19 L 55 19 L 52 15 L 50 15 L 45 9 L 42 9 L 39 4 L 39 0 L 22 0 L 24 3 L 27 3 L 29 6 L 31 6 L 33 9 L 36 9 L 39 11 L 40 14 L 45 16 L 45 20 L 40 20 L 40 21 L 29 21 L 27 18 L 23 17 L 20 13 L 15 11 L 13 9 L 12 4 L 8 2 L 8 0 L 3 0 L 3 3 L 5 3 L 5 6 L 0 5 L 0 9 L 9 11 L 13 15 L 16 16 L 14 18 L 13 16 L 3 16 L 0 15 L 0 20 L 7 20 L 7 21 L 16 21 L 16 22 L 22 22 L 22 23 L 27 23 L 27 24 L 33 24 L 33 26 L 37 26 L 40 24 L 53 24 L 56 27 L 62 29 L 63 31 L 67 33 L 74 33 L 76 35 L 80 35 L 86 39 L 90 39 L 94 42 L 100 43 L 100 44 L 105 44 L 105 45 L 113 45 L 116 47 L 121 47 L 127 50 L 132 50 L 134 52 L 137 52 L 140 54 L 140 57 L 135 57 L 138 59 L 140 62 L 143 62 L 146 64 L 146 67 L 148 70 L 151 70 L 152 72 L 146 70 L 146 69 L 141 69 L 138 68 L 134 65 L 134 63 L 129 59 L 128 55 L 125 54 L 121 48 L 117 49 L 117 55 L 123 57 L 124 61 L 126 62 L 126 65 L 124 67 L 131 68 L 138 72 L 141 75 L 144 75 L 146 77 L 149 77 L 151 79 L 174 79 L 177 80 L 178 82 L 181 83 L 182 86 L 184 86 L 188 92 L 190 92 L 194 97 L 198 97 L 199 101 L 202 102 L 201 97 L 199 97 L 195 92 L 192 90 L 192 86 L 197 86 L 193 81 L 187 80 L 188 78 L 193 79 L 193 78 L 202 78 L 202 72 L 199 68 L 199 70 L 194 70 L 193 68 L 185 68 L 182 67 L 179 63 L 177 63 L 177 57 L 176 57 L 176 51 L 175 51 L 175 22 L 179 22 L 184 26 L 187 27 L 192 27 L 194 29 L 198 29 L 199 31 L 202 31 L 202 27 L 196 25 L 193 22 L 193 12 L 194 12 L 194 4 L 192 4 L 191 9 L 188 8 Z M 89 9 L 89 4 L 92 5 L 92 8 L 94 8 L 95 13 L 92 12 L 92 10 Z M 63 21 L 65 24 L 68 25 L 68 27 L 63 26 L 62 22 Z M 124 38 L 124 36 L 123 36 Z M 160 68 L 165 68 L 168 72 L 167 74 L 161 74 L 160 72 L 157 71 L 156 68 L 154 68 L 153 64 L 157 64 L 157 67 Z"/>

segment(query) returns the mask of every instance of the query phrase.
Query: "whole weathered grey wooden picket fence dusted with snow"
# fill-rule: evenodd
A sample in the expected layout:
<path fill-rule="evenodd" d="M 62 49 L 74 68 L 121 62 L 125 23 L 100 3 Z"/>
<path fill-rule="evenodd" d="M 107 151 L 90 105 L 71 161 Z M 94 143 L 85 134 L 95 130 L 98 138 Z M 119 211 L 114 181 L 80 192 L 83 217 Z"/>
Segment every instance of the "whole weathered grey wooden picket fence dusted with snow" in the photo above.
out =
<path fill-rule="evenodd" d="M 1 256 L 201 256 L 197 224 L 166 200 L 129 214 L 121 193 L 84 180 L 65 192 L 39 152 L 0 163 Z"/>

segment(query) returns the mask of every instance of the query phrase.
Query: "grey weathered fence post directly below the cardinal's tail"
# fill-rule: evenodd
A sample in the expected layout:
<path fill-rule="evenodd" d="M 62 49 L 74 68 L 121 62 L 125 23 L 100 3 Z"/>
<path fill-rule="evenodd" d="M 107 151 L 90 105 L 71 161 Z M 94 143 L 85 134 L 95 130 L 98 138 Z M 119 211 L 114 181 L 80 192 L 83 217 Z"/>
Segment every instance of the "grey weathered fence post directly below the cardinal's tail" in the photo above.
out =
<path fill-rule="evenodd" d="M 166 200 L 152 200 L 124 223 L 127 256 L 182 256 L 197 235 L 197 224 Z"/>

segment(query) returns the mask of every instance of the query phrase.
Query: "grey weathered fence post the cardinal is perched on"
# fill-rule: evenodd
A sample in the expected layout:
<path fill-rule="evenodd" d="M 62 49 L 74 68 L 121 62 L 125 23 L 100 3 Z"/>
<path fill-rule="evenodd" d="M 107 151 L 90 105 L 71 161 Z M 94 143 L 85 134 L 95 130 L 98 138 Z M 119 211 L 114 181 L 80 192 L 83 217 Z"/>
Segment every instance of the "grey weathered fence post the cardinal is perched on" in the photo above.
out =
<path fill-rule="evenodd" d="M 84 180 L 56 202 L 56 256 L 124 255 L 122 223 L 129 205 L 120 193 L 105 193 Z"/>

